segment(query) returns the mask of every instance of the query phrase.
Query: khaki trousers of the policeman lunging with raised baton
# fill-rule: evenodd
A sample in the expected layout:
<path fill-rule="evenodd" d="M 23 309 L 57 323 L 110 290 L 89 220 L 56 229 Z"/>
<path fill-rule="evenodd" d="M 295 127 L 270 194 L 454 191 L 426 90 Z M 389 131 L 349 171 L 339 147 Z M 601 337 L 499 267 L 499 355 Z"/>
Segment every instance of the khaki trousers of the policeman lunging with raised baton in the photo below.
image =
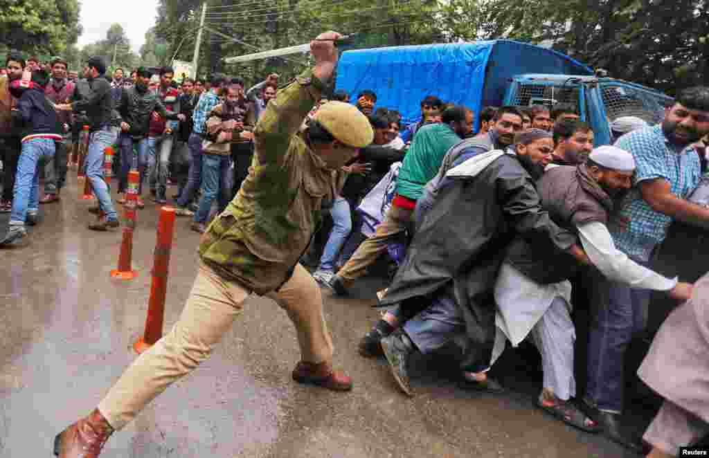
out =
<path fill-rule="evenodd" d="M 170 384 L 205 361 L 241 313 L 248 296 L 250 291 L 200 262 L 179 321 L 135 359 L 99 403 L 108 424 L 120 430 Z M 333 341 L 323 316 L 320 288 L 311 274 L 296 265 L 291 279 L 267 297 L 284 308 L 296 326 L 302 360 L 332 364 Z"/>

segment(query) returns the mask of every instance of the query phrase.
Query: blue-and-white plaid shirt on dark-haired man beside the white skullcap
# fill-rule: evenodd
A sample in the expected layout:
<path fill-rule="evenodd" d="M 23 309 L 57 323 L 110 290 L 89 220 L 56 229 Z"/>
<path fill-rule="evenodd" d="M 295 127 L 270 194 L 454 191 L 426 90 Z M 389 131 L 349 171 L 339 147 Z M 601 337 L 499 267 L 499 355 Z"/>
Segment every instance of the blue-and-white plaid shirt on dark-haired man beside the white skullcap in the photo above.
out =
<path fill-rule="evenodd" d="M 630 218 L 630 224 L 626 230 L 614 226 L 609 230 L 621 251 L 647 261 L 654 247 L 664 240 L 672 218 L 654 211 L 642 199 L 637 184 L 649 179 L 666 179 L 672 194 L 686 199 L 701 177 L 699 156 L 694 147 L 678 152 L 665 137 L 661 125 L 623 135 L 615 145 L 635 157 L 635 186 L 620 206 L 620 214 Z"/>

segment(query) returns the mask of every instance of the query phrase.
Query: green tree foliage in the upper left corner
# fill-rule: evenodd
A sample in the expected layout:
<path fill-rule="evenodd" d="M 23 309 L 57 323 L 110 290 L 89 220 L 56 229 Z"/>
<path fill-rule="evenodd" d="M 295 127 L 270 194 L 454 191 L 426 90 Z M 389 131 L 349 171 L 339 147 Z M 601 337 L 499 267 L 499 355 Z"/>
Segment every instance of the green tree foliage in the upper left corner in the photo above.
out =
<path fill-rule="evenodd" d="M 58 54 L 81 32 L 77 0 L 0 0 L 0 43 L 7 48 Z"/>

